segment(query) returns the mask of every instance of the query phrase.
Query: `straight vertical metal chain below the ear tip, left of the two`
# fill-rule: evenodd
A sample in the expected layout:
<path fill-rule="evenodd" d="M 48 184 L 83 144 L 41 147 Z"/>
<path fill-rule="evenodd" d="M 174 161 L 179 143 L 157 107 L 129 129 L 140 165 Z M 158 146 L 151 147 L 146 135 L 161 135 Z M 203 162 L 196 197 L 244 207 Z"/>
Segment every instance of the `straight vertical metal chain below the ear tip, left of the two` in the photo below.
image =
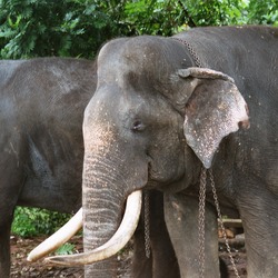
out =
<path fill-rule="evenodd" d="M 199 189 L 199 277 L 205 277 L 205 206 L 206 206 L 207 170 L 201 169 Z"/>

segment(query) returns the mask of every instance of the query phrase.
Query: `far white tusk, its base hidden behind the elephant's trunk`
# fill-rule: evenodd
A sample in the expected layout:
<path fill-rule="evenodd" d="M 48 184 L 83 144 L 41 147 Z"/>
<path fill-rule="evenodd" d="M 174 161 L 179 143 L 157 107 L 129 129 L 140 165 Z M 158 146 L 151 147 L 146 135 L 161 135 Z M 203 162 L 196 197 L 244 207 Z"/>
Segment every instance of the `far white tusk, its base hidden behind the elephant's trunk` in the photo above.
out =
<path fill-rule="evenodd" d="M 82 208 L 58 231 L 47 238 L 43 242 L 37 246 L 27 257 L 29 261 L 36 261 L 43 256 L 56 250 L 58 247 L 67 242 L 82 228 Z"/>

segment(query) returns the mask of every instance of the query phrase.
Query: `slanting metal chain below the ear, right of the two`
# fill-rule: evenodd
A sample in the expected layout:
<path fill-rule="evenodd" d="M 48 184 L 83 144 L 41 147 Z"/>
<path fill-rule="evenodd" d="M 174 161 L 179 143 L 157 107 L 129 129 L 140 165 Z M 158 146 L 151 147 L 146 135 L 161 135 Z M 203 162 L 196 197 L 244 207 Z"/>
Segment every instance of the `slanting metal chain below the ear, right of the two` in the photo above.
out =
<path fill-rule="evenodd" d="M 219 206 L 219 201 L 218 201 L 218 197 L 217 197 L 217 192 L 216 192 L 216 185 L 215 185 L 212 170 L 209 169 L 208 172 L 209 172 L 209 179 L 210 179 L 210 186 L 211 186 L 211 189 L 212 189 L 214 200 L 215 200 L 215 205 L 216 205 L 217 216 L 218 216 L 218 219 L 219 219 L 219 222 L 220 222 L 220 228 L 221 228 L 221 231 L 222 231 L 222 235 L 224 235 L 225 245 L 226 245 L 229 258 L 230 258 L 232 270 L 234 270 L 236 277 L 240 278 L 240 276 L 238 274 L 238 270 L 237 270 L 237 267 L 236 267 L 236 264 L 235 264 L 235 260 L 234 260 L 232 255 L 231 255 L 230 246 L 229 246 L 228 238 L 227 238 L 227 232 L 226 232 L 226 229 L 224 227 L 224 221 L 222 221 L 220 206 Z"/>

